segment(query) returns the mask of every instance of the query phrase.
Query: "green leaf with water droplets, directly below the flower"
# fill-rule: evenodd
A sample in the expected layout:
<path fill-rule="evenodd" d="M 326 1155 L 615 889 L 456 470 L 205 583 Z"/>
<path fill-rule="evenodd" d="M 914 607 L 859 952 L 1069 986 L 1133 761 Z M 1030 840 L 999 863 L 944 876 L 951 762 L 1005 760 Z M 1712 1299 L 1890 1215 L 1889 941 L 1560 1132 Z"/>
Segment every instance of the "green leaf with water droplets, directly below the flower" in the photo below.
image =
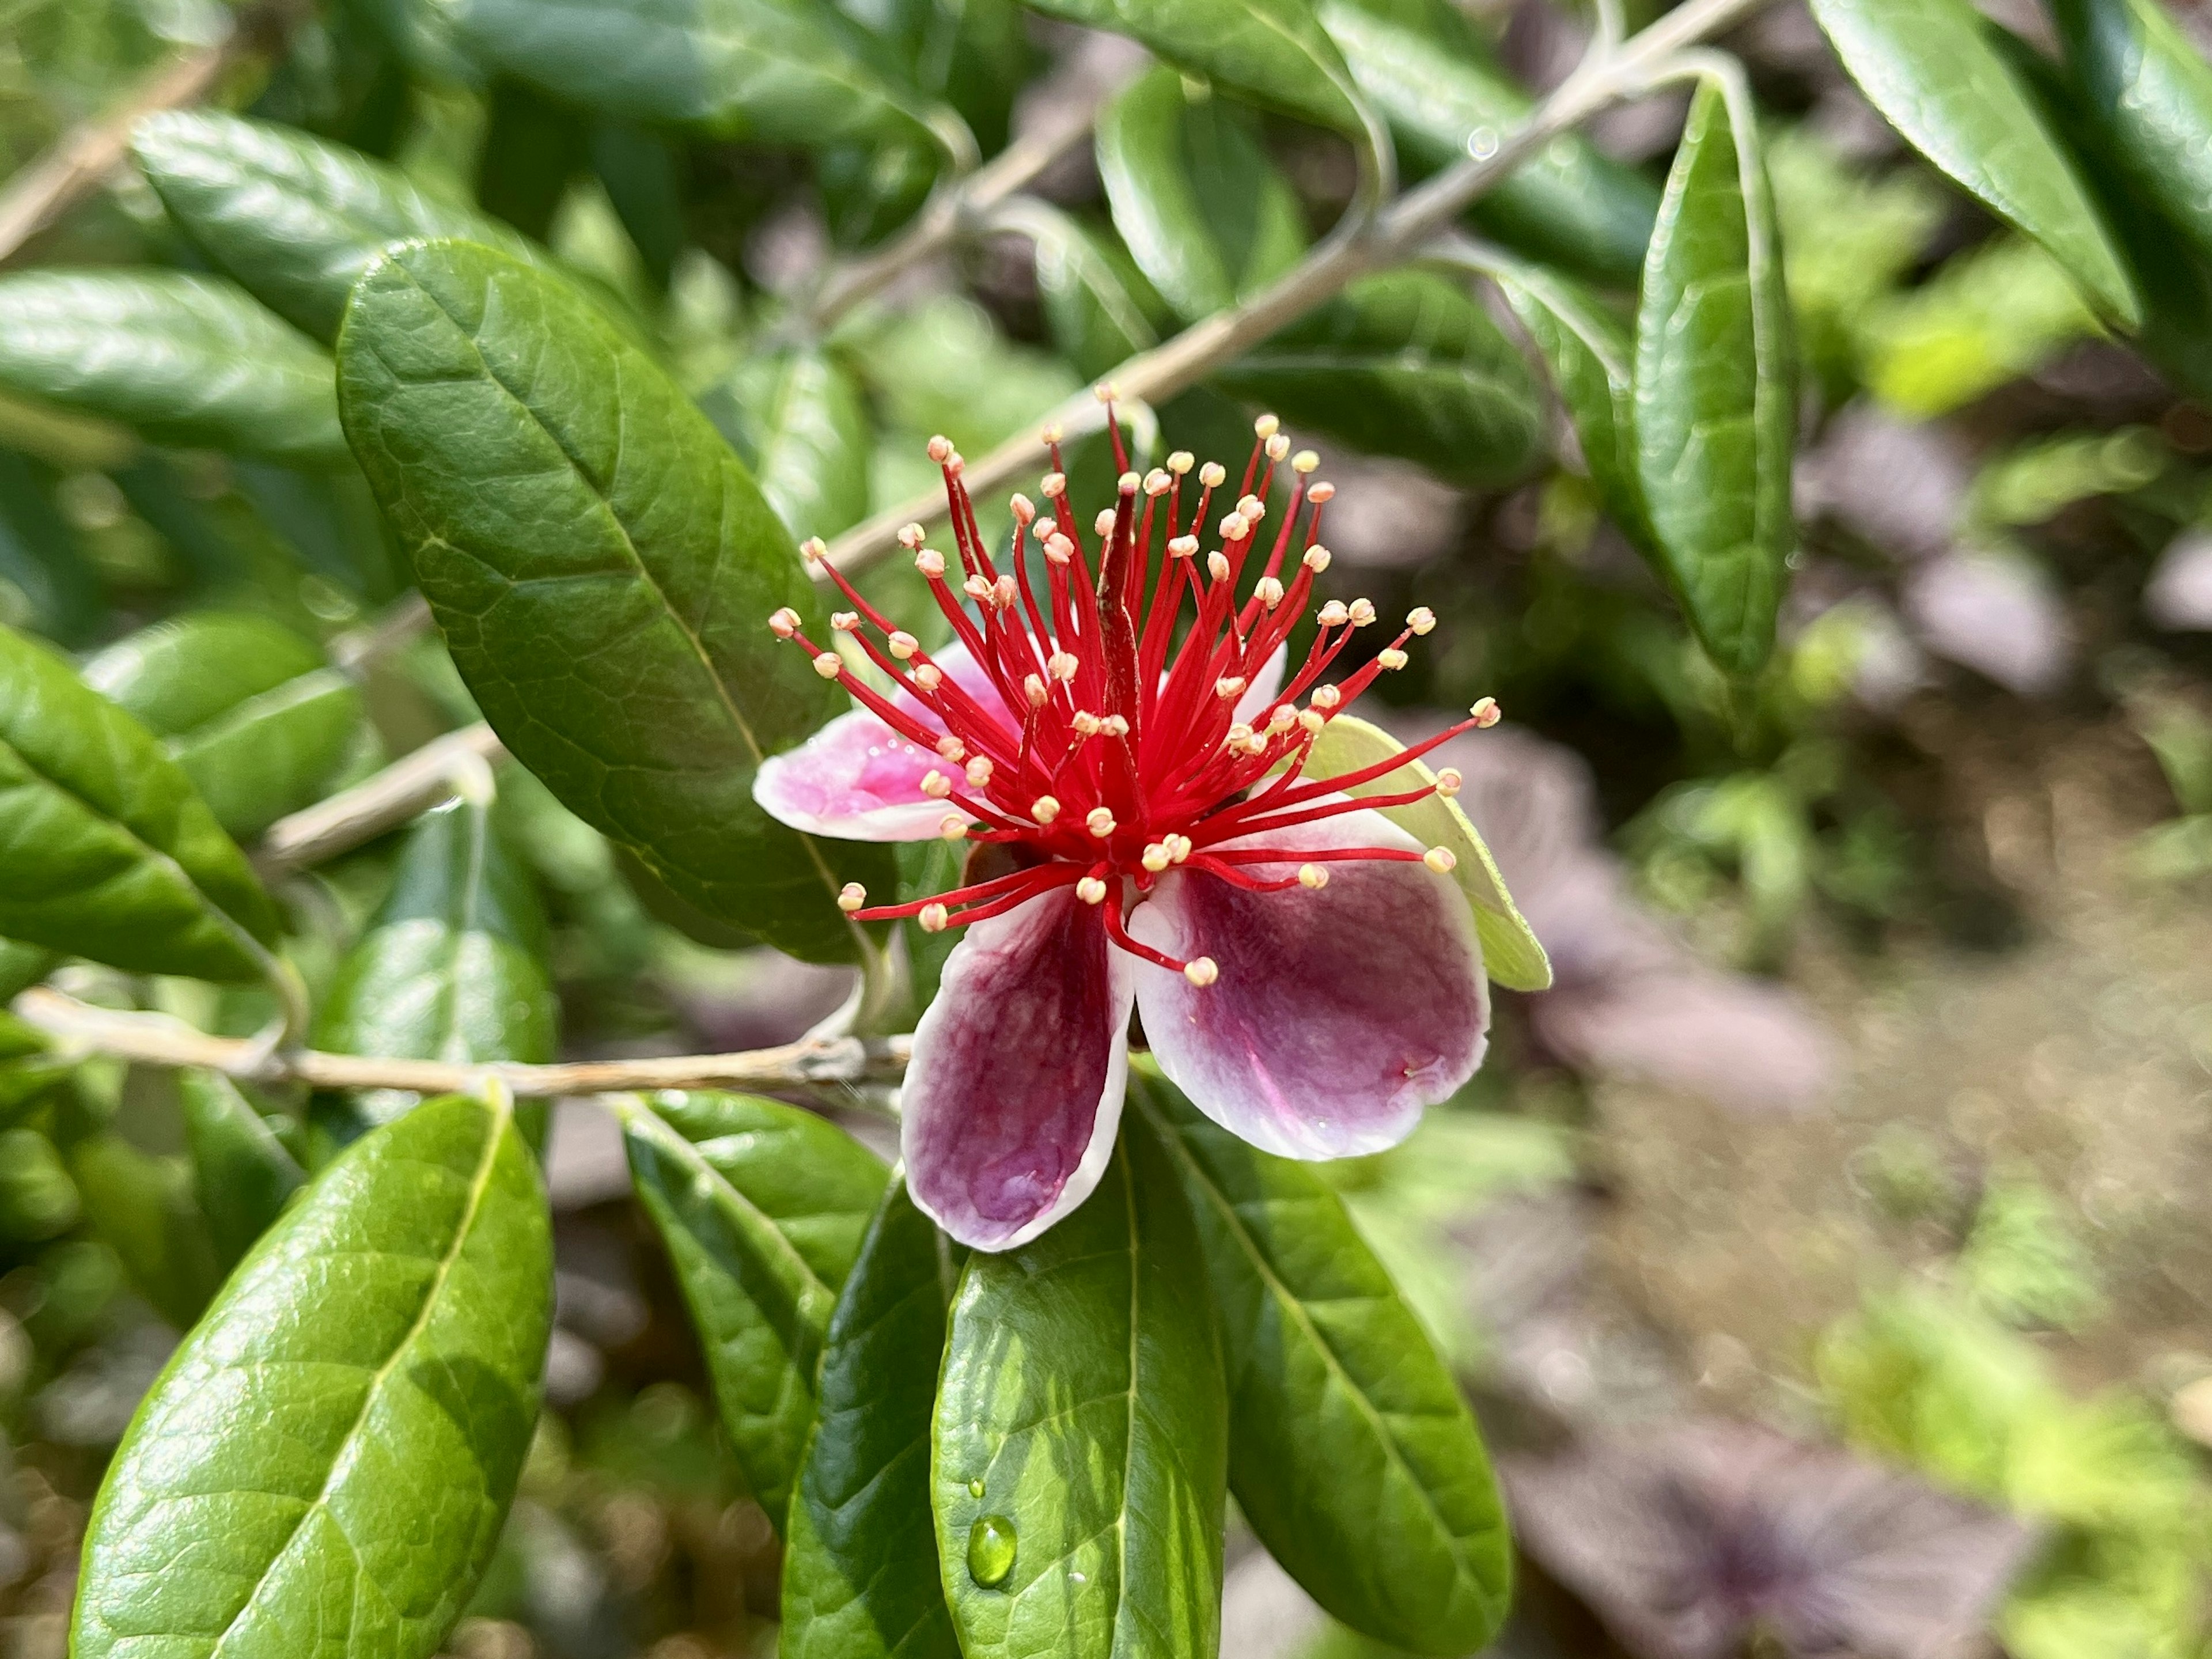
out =
<path fill-rule="evenodd" d="M 1073 1214 L 969 1256 L 931 1455 L 967 1659 L 1219 1650 L 1228 1400 L 1197 1250 L 1166 1152 L 1124 1119 Z"/>

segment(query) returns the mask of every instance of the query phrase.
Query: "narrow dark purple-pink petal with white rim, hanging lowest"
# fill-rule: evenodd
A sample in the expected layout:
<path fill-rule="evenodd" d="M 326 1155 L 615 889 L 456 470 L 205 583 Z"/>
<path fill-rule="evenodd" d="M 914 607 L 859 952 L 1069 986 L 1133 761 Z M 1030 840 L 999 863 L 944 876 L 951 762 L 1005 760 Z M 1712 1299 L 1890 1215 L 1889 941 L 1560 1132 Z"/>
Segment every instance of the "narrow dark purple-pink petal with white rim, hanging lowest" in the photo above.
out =
<path fill-rule="evenodd" d="M 914 1031 L 900 1150 L 960 1243 L 1011 1250 L 1091 1197 L 1128 1079 L 1130 960 L 1062 887 L 975 922 Z"/>

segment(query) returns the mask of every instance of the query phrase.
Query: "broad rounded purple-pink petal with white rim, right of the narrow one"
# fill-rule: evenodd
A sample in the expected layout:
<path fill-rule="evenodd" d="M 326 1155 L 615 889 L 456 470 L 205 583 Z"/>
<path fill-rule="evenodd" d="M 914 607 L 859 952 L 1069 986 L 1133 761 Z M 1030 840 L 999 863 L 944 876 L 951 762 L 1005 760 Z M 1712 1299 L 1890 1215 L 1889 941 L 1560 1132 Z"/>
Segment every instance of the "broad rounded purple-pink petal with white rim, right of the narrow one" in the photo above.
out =
<path fill-rule="evenodd" d="M 1378 812 L 1252 836 L 1296 872 L 1323 847 L 1413 847 Z M 1475 922 L 1451 876 L 1418 863 L 1332 863 L 1321 891 L 1252 894 L 1170 869 L 1130 933 L 1221 978 L 1137 964 L 1137 1006 L 1168 1079 L 1217 1124 L 1281 1157 L 1356 1157 L 1396 1146 L 1422 1106 L 1482 1064 L 1491 1024 Z"/>

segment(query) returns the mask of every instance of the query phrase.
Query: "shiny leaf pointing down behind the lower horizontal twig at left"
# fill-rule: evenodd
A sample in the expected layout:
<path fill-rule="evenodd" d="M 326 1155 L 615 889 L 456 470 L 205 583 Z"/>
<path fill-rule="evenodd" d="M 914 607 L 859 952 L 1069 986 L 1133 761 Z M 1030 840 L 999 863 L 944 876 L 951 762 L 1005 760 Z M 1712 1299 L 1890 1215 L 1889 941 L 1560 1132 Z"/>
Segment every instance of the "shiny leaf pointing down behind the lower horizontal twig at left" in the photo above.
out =
<path fill-rule="evenodd" d="M 529 869 L 487 805 L 451 801 L 409 832 L 392 891 L 323 993 L 314 1042 L 389 1060 L 542 1064 L 553 1060 L 560 1015 L 544 953 Z M 392 1088 L 354 1097 L 361 1126 L 414 1104 Z M 524 1128 L 535 1124 L 526 1117 Z"/>

